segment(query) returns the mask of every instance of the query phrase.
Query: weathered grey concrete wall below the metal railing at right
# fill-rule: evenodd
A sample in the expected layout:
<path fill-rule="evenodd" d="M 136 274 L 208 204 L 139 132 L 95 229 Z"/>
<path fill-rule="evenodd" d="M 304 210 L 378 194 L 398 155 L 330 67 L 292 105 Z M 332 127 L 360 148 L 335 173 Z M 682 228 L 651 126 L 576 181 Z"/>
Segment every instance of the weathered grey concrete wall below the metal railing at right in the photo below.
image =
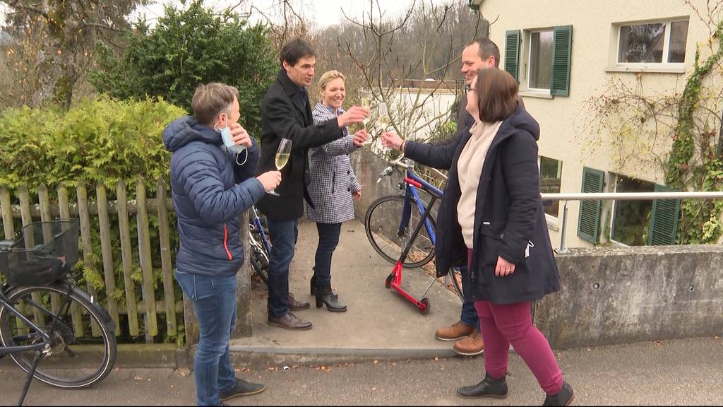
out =
<path fill-rule="evenodd" d="M 723 334 L 723 246 L 576 248 L 535 304 L 553 348 Z"/>

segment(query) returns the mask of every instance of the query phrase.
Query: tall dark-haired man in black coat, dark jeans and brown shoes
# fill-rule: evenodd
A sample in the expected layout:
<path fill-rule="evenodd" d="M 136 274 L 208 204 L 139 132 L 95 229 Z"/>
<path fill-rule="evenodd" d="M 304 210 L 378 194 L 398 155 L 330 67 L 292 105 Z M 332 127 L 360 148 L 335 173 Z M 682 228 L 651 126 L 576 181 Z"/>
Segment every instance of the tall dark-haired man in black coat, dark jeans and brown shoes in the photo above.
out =
<path fill-rule="evenodd" d="M 259 202 L 266 215 L 272 248 L 268 278 L 268 324 L 287 330 L 309 330 L 311 322 L 291 311 L 308 309 L 309 303 L 294 300 L 288 292 L 288 267 L 294 258 L 299 218 L 304 215 L 304 199 L 309 198 L 309 148 L 343 137 L 341 127 L 359 123 L 367 109 L 352 106 L 336 119 L 315 125 L 312 120 L 307 86 L 314 79 L 316 56 L 309 43 L 294 39 L 281 49 L 281 67 L 275 82 L 261 103 L 261 150 L 258 172 L 276 169 L 275 155 L 282 138 L 292 141 L 291 157 L 281 169 L 278 196 L 267 195 Z M 327 289 L 327 288 L 324 288 Z M 328 290 L 331 290 L 329 287 Z"/>

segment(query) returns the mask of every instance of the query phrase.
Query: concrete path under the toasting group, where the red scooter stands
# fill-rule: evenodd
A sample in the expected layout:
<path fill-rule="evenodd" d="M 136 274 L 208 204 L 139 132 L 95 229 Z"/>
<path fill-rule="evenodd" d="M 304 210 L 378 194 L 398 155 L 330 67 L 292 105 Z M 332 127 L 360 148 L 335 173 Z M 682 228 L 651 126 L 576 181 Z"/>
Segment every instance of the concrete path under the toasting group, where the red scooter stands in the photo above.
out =
<path fill-rule="evenodd" d="M 426 358 L 454 356 L 453 343 L 435 340 L 438 327 L 459 319 L 461 301 L 441 279 L 432 284 L 427 298 L 429 314 L 422 315 L 395 290 L 385 288 L 393 265 L 372 248 L 361 222 L 346 222 L 333 257 L 332 286 L 348 311 L 317 309 L 309 295 L 314 274 L 318 235 L 311 222 L 299 224 L 299 241 L 289 272 L 289 287 L 296 298 L 312 303 L 295 314 L 314 324 L 309 331 L 289 331 L 266 324 L 267 291 L 263 283 L 252 288 L 253 335 L 231 341 L 236 360 L 253 358 L 267 363 L 345 361 L 348 358 Z M 424 269 L 405 269 L 402 285 L 416 298 L 433 282 Z M 241 357 L 239 357 L 241 356 Z"/>

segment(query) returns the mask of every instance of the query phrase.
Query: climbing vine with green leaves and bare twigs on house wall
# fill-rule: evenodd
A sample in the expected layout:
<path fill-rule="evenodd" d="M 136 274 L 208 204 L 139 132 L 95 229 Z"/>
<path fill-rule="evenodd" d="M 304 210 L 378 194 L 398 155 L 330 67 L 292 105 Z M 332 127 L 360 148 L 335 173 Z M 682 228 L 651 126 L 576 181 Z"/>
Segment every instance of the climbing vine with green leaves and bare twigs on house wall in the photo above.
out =
<path fill-rule="evenodd" d="M 696 46 L 683 93 L 647 94 L 643 73 L 636 74 L 632 85 L 612 79 L 602 94 L 586 101 L 589 114 L 581 133 L 589 153 L 606 147 L 628 172 L 653 164 L 664 172 L 669 187 L 722 191 L 723 20 L 698 16 L 709 22 L 711 35 Z M 716 243 L 722 235 L 722 200 L 681 203 L 677 243 Z"/>

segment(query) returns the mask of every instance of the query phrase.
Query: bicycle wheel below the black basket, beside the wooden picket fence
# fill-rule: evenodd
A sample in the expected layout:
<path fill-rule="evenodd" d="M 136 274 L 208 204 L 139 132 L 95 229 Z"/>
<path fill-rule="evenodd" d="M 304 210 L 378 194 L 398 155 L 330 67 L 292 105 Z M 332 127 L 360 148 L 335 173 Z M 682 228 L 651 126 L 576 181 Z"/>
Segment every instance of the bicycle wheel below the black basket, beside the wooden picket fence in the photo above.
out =
<path fill-rule="evenodd" d="M 82 295 L 68 293 L 67 285 L 51 285 L 16 288 L 7 298 L 50 337 L 52 354 L 40 359 L 35 379 L 56 387 L 79 388 L 93 385 L 111 372 L 116 337 L 100 311 Z M 0 340 L 5 346 L 22 346 L 43 338 L 3 307 Z M 35 352 L 11 353 L 10 357 L 20 369 L 30 372 Z"/>

